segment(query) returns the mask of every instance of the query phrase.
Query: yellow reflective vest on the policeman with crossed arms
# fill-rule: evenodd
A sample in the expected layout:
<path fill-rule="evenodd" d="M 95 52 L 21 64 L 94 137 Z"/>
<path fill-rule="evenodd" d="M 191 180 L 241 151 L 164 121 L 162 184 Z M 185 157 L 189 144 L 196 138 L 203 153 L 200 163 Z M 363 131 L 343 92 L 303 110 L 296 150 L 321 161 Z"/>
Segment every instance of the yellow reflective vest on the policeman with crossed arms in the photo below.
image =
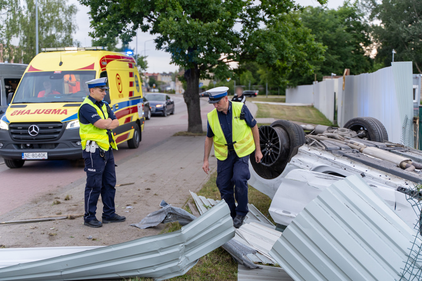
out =
<path fill-rule="evenodd" d="M 85 100 L 83 101 L 83 103 L 80 106 L 85 105 L 85 104 L 93 106 L 95 108 L 95 110 L 97 110 L 98 116 L 100 116 L 101 119 L 109 118 L 109 113 L 107 112 L 107 105 L 105 103 L 103 103 L 103 106 L 101 106 L 101 109 L 100 109 L 90 99 L 88 99 L 88 97 L 86 97 Z M 79 110 L 80 110 L 80 107 L 79 107 Z M 77 118 L 78 119 L 79 119 L 79 110 L 77 111 Z M 80 119 L 79 119 L 79 121 L 80 121 Z M 91 123 L 82 124 L 81 122 L 79 122 L 79 126 L 80 126 L 79 127 L 79 135 L 80 135 L 80 140 L 81 140 L 81 144 L 82 144 L 82 149 L 85 149 L 85 145 L 86 145 L 87 140 L 96 141 L 98 146 L 100 146 L 103 150 L 106 150 L 106 151 L 109 150 L 110 145 L 114 149 L 117 149 L 115 137 L 112 134 L 113 142 L 110 143 L 109 135 L 107 134 L 106 129 L 100 129 L 98 127 L 95 127 Z"/>

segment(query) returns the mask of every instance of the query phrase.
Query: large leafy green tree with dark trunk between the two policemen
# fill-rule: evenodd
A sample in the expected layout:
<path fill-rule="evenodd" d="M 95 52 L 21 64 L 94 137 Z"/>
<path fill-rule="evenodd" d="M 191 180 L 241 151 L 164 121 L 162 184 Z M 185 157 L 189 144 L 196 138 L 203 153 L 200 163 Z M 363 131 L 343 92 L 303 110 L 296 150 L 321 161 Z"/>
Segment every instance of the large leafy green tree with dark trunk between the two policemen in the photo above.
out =
<path fill-rule="evenodd" d="M 311 35 L 292 31 L 281 20 L 280 15 L 298 8 L 293 0 L 79 1 L 90 6 L 91 36 L 104 44 L 116 37 L 129 42 L 138 28 L 158 35 L 157 49 L 185 69 L 189 132 L 202 132 L 200 77 L 231 77 L 228 63 L 233 61 L 256 60 L 279 72 L 296 67 L 307 72 L 312 68 L 308 59 L 323 52 Z"/>

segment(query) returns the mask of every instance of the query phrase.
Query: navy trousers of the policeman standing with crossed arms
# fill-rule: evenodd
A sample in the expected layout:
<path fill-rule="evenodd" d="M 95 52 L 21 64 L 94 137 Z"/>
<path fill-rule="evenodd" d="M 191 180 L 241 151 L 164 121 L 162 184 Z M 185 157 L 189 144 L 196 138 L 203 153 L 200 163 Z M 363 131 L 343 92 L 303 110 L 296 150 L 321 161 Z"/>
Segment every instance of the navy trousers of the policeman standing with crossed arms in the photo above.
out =
<path fill-rule="evenodd" d="M 104 154 L 104 157 L 102 155 Z M 85 222 L 93 220 L 97 211 L 98 198 L 101 195 L 103 202 L 103 219 L 110 219 L 115 215 L 115 158 L 113 150 L 95 152 L 82 152 L 85 160 L 86 185 L 85 185 Z"/>

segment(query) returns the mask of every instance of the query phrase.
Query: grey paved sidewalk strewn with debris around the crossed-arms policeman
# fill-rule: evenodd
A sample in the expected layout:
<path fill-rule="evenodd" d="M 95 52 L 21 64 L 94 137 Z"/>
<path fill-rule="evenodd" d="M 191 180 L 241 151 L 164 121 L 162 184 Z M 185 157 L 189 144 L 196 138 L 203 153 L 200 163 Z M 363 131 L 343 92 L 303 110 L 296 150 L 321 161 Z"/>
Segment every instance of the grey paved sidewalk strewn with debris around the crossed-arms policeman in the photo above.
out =
<path fill-rule="evenodd" d="M 159 209 L 164 199 L 183 207 L 189 190 L 198 191 L 208 176 L 202 171 L 203 137 L 171 137 L 153 149 L 127 158 L 116 167 L 116 211 L 126 216 L 122 223 L 104 224 L 100 228 L 83 225 L 82 217 L 56 221 L 0 225 L 0 245 L 6 247 L 106 246 L 158 234 L 164 225 L 141 230 L 129 226 Z M 217 166 L 210 157 L 211 173 Z M 0 221 L 21 220 L 38 216 L 83 213 L 85 178 L 81 178 L 19 210 L 0 216 Z M 65 201 L 67 195 L 71 200 Z M 53 205 L 55 200 L 60 204 Z M 133 209 L 125 209 L 132 206 Z M 97 218 L 101 219 L 102 203 Z M 93 239 L 87 239 L 92 236 Z"/>

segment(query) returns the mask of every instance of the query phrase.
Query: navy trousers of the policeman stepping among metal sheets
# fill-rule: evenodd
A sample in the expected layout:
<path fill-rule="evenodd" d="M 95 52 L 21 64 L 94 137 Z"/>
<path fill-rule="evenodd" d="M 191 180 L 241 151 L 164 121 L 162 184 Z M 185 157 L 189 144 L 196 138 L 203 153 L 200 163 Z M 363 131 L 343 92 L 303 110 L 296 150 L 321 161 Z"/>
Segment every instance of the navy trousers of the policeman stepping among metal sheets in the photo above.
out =
<path fill-rule="evenodd" d="M 251 177 L 248 165 L 249 156 L 237 157 L 236 152 L 229 151 L 226 160 L 217 159 L 216 184 L 221 199 L 229 205 L 232 218 L 248 213 L 248 180 Z M 237 207 L 235 201 L 237 201 Z"/>

